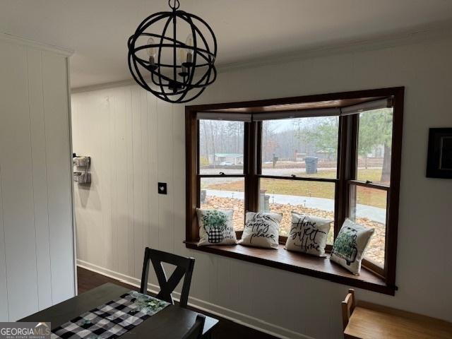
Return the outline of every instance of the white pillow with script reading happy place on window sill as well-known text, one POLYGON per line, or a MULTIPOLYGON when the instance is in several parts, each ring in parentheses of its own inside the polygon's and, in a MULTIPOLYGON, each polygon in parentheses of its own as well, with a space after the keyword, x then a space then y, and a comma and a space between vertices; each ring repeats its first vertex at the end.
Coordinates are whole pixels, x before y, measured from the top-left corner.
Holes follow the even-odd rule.
POLYGON ((278 249, 281 220, 283 215, 278 213, 246 212, 245 227, 239 244, 278 249))

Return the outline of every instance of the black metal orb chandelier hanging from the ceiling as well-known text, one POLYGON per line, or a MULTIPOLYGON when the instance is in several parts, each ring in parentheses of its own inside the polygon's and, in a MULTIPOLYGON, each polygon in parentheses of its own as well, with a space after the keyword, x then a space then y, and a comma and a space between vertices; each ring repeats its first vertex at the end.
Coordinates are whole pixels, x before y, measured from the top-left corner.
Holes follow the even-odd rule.
POLYGON ((172 11, 148 16, 129 37, 129 69, 142 88, 160 99, 189 102, 217 77, 217 40, 206 21, 179 10, 179 0, 168 4, 172 11))

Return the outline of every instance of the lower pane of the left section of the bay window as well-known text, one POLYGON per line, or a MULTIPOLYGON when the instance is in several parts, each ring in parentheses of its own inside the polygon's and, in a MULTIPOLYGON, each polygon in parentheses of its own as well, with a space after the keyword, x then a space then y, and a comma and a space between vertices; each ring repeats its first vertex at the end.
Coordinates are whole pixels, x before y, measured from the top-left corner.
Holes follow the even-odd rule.
POLYGON ((244 178, 201 178, 200 208, 234 210, 234 230, 243 230, 244 183, 244 178))

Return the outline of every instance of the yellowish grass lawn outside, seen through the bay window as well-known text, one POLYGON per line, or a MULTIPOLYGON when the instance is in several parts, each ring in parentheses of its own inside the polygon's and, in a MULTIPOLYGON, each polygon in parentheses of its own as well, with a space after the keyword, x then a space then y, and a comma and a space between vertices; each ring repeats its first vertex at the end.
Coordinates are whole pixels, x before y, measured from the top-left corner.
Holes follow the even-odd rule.
MULTIPOLYGON (((358 179, 379 182, 381 169, 359 169, 358 179)), ((298 174, 300 177, 306 175, 298 174)), ((335 170, 325 170, 311 177, 331 178, 334 177, 335 170)), ((243 182, 224 182, 210 184, 206 189, 218 189, 223 191, 243 191, 243 182)), ((313 196, 316 198, 334 198, 335 184, 330 182, 304 182, 291 181, 285 179, 261 179, 261 189, 265 189, 268 194, 285 194, 287 196, 313 196)), ((378 189, 368 189, 366 187, 357 188, 358 203, 374 207, 386 208, 386 191, 378 189)))

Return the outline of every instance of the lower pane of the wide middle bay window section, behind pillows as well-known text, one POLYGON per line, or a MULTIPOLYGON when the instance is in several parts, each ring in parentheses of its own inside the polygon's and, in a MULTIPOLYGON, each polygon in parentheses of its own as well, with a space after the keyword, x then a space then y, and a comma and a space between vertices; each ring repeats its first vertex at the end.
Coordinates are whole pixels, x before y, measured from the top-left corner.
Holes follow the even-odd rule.
MULTIPOLYGON (((287 179, 261 179, 259 210, 283 213, 280 235, 287 237, 292 210, 334 220, 334 188, 331 182, 304 182, 287 179)), ((328 244, 333 244, 333 222, 328 244)))

